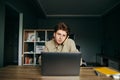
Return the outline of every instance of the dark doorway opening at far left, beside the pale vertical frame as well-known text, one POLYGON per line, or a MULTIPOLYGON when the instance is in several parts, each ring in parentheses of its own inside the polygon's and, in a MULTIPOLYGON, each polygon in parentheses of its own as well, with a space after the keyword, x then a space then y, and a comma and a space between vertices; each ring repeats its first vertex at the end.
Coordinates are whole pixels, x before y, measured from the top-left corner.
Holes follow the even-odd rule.
POLYGON ((19 13, 5 6, 4 66, 18 62, 19 13))

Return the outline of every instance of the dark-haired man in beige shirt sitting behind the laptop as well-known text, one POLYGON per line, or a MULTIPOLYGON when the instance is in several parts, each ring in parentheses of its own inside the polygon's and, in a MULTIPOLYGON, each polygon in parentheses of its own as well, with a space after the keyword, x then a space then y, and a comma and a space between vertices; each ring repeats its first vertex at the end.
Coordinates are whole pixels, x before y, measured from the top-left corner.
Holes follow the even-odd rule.
POLYGON ((46 42, 45 52, 79 52, 75 42, 69 38, 70 30, 63 22, 55 26, 53 39, 46 42))

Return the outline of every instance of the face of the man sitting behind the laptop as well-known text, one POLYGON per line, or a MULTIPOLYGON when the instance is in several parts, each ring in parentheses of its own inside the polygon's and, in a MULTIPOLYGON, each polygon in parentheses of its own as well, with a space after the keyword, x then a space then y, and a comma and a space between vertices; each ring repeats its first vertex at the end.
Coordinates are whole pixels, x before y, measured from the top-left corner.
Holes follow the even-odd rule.
POLYGON ((54 33, 54 39, 57 44, 62 44, 67 38, 67 33, 64 30, 58 30, 54 33))

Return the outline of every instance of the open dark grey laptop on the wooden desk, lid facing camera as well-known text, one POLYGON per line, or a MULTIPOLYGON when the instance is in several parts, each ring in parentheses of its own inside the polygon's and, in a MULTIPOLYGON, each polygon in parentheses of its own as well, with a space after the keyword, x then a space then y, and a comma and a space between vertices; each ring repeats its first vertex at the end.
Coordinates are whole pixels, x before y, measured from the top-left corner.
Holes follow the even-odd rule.
POLYGON ((43 76, 78 76, 81 53, 41 53, 41 74, 43 76))

